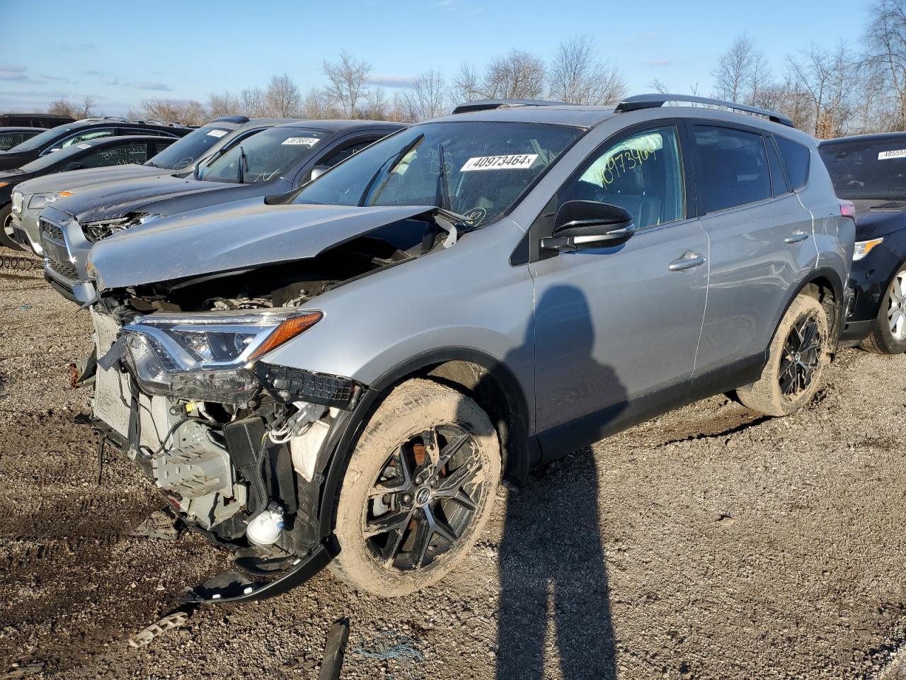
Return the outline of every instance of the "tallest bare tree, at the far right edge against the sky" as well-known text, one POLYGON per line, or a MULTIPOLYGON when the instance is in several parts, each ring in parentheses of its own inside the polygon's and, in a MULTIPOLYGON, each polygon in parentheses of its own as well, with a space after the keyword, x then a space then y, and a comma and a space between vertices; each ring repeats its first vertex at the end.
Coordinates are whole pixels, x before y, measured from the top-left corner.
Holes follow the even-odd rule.
POLYGON ((867 61, 884 74, 897 100, 896 120, 892 127, 906 127, 906 2, 880 0, 870 9, 871 20, 865 30, 867 61))

